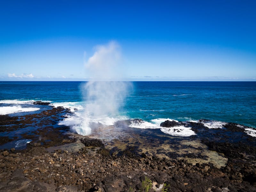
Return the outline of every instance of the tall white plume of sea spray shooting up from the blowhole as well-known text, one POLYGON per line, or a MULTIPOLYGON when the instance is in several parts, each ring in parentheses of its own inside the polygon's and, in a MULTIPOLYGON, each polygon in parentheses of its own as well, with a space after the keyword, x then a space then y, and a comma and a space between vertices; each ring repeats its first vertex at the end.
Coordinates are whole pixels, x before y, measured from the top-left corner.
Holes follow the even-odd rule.
POLYGON ((90 81, 84 86, 84 119, 80 126, 73 127, 78 134, 90 134, 95 129, 92 123, 114 124, 127 90, 131 88, 130 83, 122 81, 121 61, 120 46, 111 41, 107 45, 97 46, 93 56, 85 62, 90 81))

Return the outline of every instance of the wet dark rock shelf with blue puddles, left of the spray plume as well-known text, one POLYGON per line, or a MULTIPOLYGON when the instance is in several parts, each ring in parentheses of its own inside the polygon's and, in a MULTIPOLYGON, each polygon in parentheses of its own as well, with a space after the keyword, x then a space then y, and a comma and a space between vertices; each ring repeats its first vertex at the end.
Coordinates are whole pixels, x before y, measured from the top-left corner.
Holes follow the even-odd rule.
POLYGON ((58 125, 58 123, 67 114, 71 114, 69 109, 47 106, 45 110, 39 113, 23 116, 0 115, 0 148, 10 149, 15 147, 15 142, 19 142, 22 139, 32 140, 33 142, 40 141, 40 145, 45 146, 63 144, 63 140, 66 139, 68 141, 70 139, 62 133, 68 132, 70 128, 58 125))

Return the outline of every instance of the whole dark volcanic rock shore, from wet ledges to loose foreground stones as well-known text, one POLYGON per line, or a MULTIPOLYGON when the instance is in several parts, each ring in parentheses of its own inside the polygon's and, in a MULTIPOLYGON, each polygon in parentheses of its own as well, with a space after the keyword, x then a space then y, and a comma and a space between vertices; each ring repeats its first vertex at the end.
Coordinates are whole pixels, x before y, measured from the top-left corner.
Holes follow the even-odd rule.
MULTIPOLYGON (((23 134, 32 140, 27 148, 0 151, 0 191, 256 191, 256 140, 238 124, 209 130, 194 123, 197 135, 187 138, 125 127, 122 137, 109 141, 55 126, 64 113, 70 111, 51 108, 24 119, 0 116, 1 125, 12 124, 8 130, 35 119, 42 127, 23 134)), ((109 134, 111 129, 116 131, 108 127, 109 134)), ((1 137, 1 144, 12 139, 1 137)))

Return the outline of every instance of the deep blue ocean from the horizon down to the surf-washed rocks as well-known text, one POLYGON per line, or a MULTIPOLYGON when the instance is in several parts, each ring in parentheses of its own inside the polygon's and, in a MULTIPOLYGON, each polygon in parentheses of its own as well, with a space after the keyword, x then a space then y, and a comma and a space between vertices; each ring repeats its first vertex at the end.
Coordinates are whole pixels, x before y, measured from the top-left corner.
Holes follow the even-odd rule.
POLYGON ((89 121, 134 118, 146 122, 138 128, 159 128, 166 119, 256 128, 256 82, 0 82, 0 114, 36 113, 28 106, 34 100, 70 108, 75 115, 62 123, 80 134, 90 133, 84 130, 89 121))

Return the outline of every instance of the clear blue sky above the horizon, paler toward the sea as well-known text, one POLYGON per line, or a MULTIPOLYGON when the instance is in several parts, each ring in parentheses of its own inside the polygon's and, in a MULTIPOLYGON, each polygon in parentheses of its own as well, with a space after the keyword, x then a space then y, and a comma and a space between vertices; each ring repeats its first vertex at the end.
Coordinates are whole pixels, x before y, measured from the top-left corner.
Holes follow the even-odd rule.
POLYGON ((90 80, 116 42, 125 80, 256 80, 256 1, 1 1, 0 80, 90 80))

